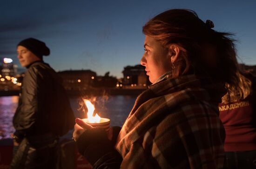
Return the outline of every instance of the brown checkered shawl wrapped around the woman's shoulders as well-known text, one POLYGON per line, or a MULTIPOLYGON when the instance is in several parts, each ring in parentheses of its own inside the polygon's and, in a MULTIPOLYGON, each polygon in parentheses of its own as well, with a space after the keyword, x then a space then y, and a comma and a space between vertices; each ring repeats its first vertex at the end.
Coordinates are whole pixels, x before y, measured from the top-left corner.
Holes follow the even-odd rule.
POLYGON ((121 169, 221 169, 224 85, 195 75, 167 78, 135 101, 116 143, 121 169))

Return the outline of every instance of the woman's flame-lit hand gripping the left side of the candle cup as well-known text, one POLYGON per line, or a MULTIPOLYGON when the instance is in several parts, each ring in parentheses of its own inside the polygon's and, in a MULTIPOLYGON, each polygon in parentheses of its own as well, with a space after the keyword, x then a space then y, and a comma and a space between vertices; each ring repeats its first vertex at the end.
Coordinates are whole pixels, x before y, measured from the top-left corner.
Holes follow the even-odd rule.
POLYGON ((74 132, 73 132, 74 141, 76 141, 79 138, 79 136, 81 136, 81 134, 85 132, 85 130, 89 130, 91 128, 93 127, 88 123, 85 123, 80 118, 75 118, 75 125, 74 125, 74 132))

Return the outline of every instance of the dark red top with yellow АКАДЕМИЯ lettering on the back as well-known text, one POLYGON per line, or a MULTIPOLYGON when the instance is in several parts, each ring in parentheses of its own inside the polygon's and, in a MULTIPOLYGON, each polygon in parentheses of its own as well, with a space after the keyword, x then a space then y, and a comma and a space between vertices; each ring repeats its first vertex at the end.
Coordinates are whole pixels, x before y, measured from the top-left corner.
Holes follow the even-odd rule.
POLYGON ((256 96, 230 104, 219 104, 220 119, 226 131, 224 150, 256 150, 256 96))

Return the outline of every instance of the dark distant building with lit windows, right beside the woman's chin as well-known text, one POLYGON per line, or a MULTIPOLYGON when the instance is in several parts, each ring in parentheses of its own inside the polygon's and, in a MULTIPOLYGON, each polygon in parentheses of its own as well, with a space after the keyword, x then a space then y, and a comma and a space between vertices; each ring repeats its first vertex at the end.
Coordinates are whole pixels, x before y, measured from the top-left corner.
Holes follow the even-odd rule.
POLYGON ((142 65, 126 66, 122 73, 123 79, 119 83, 123 88, 147 88, 150 84, 145 67, 142 65))

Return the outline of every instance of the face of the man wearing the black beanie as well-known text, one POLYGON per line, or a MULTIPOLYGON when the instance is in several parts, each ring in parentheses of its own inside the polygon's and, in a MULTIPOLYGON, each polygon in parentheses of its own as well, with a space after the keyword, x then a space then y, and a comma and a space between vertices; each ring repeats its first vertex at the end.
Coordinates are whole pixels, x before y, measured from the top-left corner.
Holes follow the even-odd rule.
POLYGON ((17 58, 19 59, 20 65, 22 67, 26 67, 30 65, 31 63, 40 60, 34 53, 30 52, 26 47, 24 46, 18 46, 17 47, 17 58))

